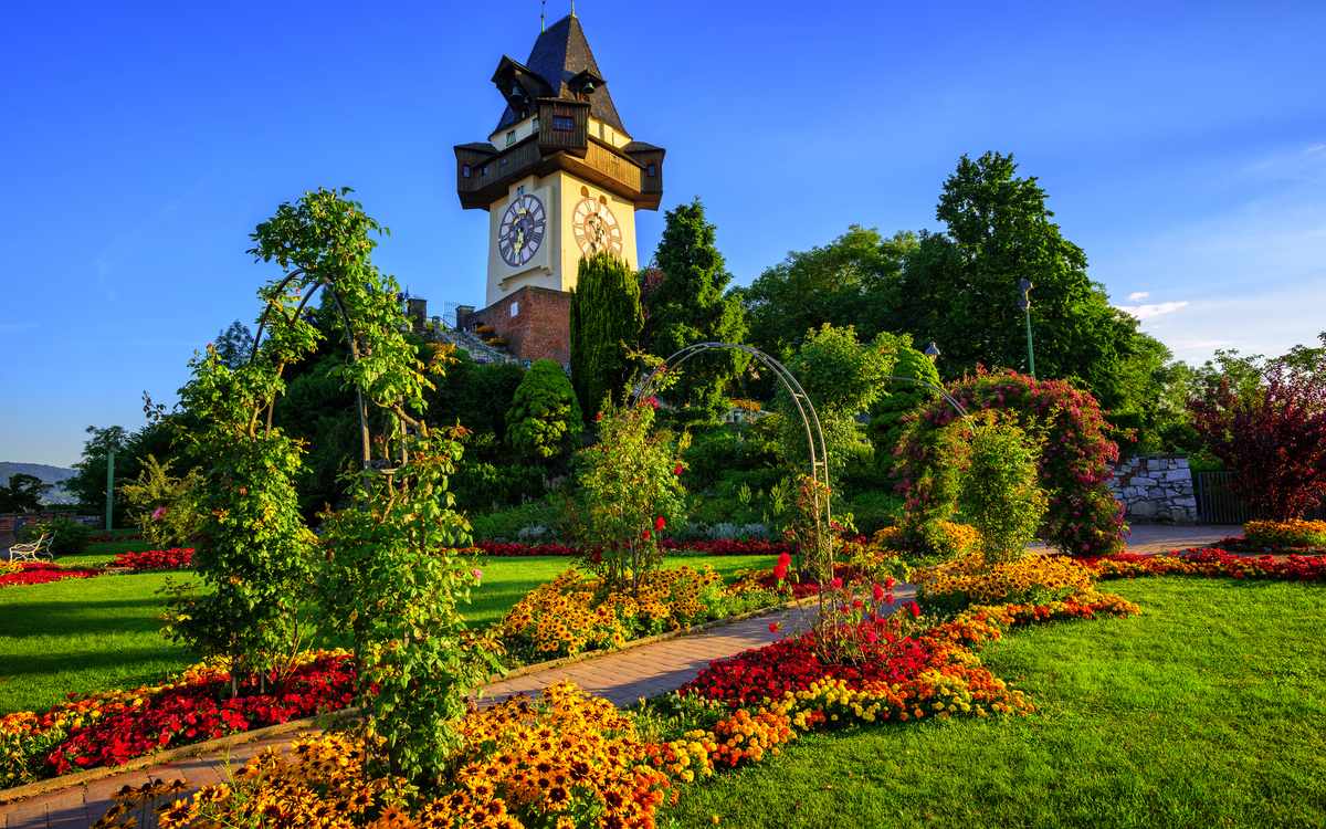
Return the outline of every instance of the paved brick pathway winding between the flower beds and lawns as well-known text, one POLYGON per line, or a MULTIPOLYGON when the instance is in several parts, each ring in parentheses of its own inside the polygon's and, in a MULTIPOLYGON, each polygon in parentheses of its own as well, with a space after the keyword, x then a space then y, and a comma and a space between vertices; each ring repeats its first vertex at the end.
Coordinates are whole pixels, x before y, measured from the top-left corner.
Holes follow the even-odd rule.
MULTIPOLYGON (((1171 549, 1200 546, 1238 535, 1238 527, 1135 527, 1128 539, 1128 550, 1158 553, 1171 549)), ((895 590, 898 605, 911 601, 914 590, 899 585, 895 590)), ((549 669, 537 674, 497 682, 485 688, 496 700, 512 694, 534 695, 546 684, 569 679, 586 691, 603 696, 617 706, 629 706, 640 698, 670 691, 695 678, 711 659, 732 657, 752 647, 766 645, 782 634, 769 630, 769 622, 784 614, 756 617, 712 627, 701 633, 654 642, 627 651, 607 654, 585 662, 549 669)), ((794 627, 797 610, 789 613, 782 626, 794 627)), ((312 733, 312 732, 304 732, 312 733)), ((248 757, 268 745, 282 745, 296 735, 281 735, 259 743, 248 743, 227 751, 190 757, 175 763, 126 772, 86 785, 73 787, 49 795, 0 805, 0 828, 4 829, 85 829, 101 818, 111 806, 111 796, 121 787, 141 785, 149 780, 183 777, 192 788, 225 783, 227 763, 239 769, 248 757)), ((150 825, 155 825, 152 821, 150 825)), ((150 829, 150 828, 143 828, 150 829)))

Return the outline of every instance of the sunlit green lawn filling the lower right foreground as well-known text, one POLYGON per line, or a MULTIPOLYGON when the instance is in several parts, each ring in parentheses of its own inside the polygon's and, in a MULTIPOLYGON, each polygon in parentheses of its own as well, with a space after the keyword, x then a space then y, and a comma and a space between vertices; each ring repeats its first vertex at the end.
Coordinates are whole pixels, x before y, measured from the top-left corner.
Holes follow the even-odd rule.
POLYGON ((1326 590, 1102 586, 1143 613, 1020 630, 983 654, 1037 714, 802 737, 686 787, 660 825, 1326 825, 1326 590))

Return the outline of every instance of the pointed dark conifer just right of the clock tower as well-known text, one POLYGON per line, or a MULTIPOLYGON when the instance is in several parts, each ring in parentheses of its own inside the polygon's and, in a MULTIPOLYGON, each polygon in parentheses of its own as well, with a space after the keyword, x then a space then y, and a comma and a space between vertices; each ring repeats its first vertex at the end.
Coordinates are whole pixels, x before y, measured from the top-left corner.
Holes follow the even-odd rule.
MULTIPOLYGON (((704 218, 696 196, 666 215, 663 237, 654 255, 664 279, 648 297, 644 341, 651 354, 667 358, 696 342, 743 342, 745 321, 723 253, 715 245, 716 228, 704 218)), ((701 354, 684 366, 682 379, 664 397, 715 416, 727 411, 723 390, 747 365, 735 349, 701 354)))

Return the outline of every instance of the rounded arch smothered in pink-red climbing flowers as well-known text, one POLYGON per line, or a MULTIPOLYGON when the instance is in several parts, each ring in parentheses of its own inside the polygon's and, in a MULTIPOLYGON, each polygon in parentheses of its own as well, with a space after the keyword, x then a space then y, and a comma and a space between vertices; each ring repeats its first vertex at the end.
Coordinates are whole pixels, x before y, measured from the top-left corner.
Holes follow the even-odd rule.
MULTIPOLYGON (((1109 424, 1095 399, 1065 381, 1036 381, 1014 371, 977 367, 948 387, 968 411, 1002 411, 1025 430, 1044 434, 1040 485, 1049 492, 1045 540, 1074 554, 1123 550, 1123 507, 1106 488, 1109 463, 1119 447, 1106 436, 1109 424)), ((956 440, 959 415, 936 399, 911 416, 895 452, 894 478, 906 497, 910 523, 934 527, 953 512, 956 470, 945 460, 956 440)))

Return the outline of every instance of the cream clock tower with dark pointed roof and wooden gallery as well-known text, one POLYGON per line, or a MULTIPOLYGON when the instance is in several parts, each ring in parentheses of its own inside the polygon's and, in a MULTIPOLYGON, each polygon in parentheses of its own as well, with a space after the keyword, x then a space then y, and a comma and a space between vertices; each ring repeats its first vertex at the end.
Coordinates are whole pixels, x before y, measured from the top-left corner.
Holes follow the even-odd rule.
MULTIPOLYGON (((664 151, 622 126, 575 15, 545 29, 524 64, 503 57, 492 82, 505 107, 488 141, 455 149, 456 192, 489 214, 487 308, 468 318, 505 336, 522 296, 557 305, 552 292, 575 287, 581 256, 639 267, 635 211, 659 207, 664 151)), ((526 359, 548 350, 528 332, 517 338, 507 337, 526 359)))

